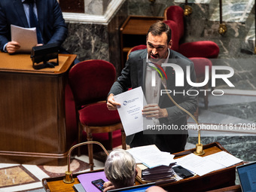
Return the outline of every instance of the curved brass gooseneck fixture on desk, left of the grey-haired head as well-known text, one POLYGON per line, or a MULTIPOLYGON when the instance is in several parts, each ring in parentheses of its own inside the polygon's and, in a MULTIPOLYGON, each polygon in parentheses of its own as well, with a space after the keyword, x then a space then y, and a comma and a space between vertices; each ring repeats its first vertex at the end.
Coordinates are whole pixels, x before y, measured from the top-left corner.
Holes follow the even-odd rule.
POLYGON ((69 153, 68 153, 68 171, 65 172, 65 178, 63 179, 63 182, 66 184, 71 184, 75 181, 75 179, 72 176, 72 171, 70 171, 70 155, 71 152, 73 151, 73 149, 80 147, 81 145, 87 145, 87 144, 97 144, 99 146, 102 147, 102 149, 105 151, 105 154, 108 155, 108 151, 104 148, 104 146, 100 143, 100 142, 81 142, 78 143, 77 145, 74 145, 72 148, 69 149, 69 153))

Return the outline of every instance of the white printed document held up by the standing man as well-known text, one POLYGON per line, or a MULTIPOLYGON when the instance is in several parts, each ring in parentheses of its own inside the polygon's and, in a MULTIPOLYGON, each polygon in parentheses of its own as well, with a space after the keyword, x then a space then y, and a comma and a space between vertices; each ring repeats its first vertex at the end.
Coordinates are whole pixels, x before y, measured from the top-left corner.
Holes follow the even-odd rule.
POLYGON ((114 101, 121 104, 117 110, 126 136, 147 130, 147 125, 154 125, 151 118, 142 115, 143 105, 146 105, 142 87, 120 93, 114 96, 114 101))

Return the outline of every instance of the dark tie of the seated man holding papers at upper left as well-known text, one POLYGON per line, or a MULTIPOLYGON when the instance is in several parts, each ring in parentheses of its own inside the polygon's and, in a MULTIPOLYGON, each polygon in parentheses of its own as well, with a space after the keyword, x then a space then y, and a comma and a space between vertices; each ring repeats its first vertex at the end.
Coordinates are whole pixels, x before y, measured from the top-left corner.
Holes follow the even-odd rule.
POLYGON ((35 27, 36 28, 36 35, 38 37, 38 44, 42 44, 42 37, 41 37, 41 32, 38 26, 38 20, 35 16, 35 12, 33 10, 34 8, 34 0, 26 0, 24 3, 29 4, 29 22, 30 22, 30 27, 35 27))

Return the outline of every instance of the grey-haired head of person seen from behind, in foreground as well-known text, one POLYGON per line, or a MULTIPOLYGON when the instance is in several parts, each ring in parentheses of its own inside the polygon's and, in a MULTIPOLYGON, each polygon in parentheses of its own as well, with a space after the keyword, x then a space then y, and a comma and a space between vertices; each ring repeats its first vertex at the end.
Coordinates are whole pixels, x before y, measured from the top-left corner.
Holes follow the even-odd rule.
POLYGON ((137 175, 133 156, 123 149, 111 151, 105 161, 104 171, 109 180, 103 185, 104 191, 133 186, 137 175))

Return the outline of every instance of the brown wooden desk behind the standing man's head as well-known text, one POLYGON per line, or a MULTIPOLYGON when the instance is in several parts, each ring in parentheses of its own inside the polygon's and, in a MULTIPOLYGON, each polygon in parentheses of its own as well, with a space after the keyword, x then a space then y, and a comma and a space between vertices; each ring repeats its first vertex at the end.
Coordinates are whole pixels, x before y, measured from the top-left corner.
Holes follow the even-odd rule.
POLYGON ((163 17, 129 16, 120 27, 120 50, 122 69, 130 48, 146 44, 146 35, 149 27, 163 17))

